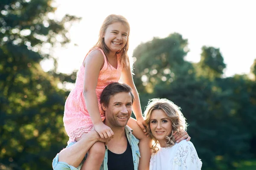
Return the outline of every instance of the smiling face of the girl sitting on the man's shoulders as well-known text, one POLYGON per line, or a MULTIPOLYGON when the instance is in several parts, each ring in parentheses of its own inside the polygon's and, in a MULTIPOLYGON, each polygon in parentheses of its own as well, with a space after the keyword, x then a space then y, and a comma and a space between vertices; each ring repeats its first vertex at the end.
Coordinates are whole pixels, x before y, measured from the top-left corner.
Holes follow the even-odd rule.
POLYGON ((105 31, 104 42, 111 52, 124 48, 129 29, 120 22, 110 24, 105 31))

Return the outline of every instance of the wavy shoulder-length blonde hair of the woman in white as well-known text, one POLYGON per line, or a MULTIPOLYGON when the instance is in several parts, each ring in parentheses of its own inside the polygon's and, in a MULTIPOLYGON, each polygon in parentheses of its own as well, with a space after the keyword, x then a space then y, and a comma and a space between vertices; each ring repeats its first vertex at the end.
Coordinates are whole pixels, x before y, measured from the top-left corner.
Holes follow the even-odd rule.
POLYGON ((176 131, 180 134, 181 131, 185 130, 187 127, 186 119, 180 111, 180 107, 175 105, 168 99, 151 99, 148 102, 146 110, 144 112, 145 115, 145 122, 148 125, 147 132, 150 134, 151 139, 153 139, 154 144, 151 147, 153 153, 156 153, 159 148, 157 144, 159 144, 158 140, 153 136, 151 129, 150 129, 150 120, 151 120, 151 113, 154 110, 162 110, 168 116, 169 120, 172 122, 172 133, 169 136, 166 136, 166 147, 173 146, 175 144, 175 137, 173 133, 176 131))

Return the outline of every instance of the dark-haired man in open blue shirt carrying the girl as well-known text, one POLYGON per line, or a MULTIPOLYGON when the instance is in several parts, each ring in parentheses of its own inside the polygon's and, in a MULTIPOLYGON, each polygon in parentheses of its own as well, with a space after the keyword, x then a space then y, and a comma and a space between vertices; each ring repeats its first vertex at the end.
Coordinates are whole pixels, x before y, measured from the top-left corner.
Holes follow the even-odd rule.
MULTIPOLYGON (((131 128, 127 126, 133 101, 134 95, 130 86, 118 82, 108 85, 102 91, 101 105, 105 111, 105 125, 111 127, 114 138, 109 141, 102 139, 93 128, 87 133, 86 138, 69 144, 56 155, 52 161, 53 169, 80 170, 86 159, 84 156, 90 147, 99 141, 107 144, 100 170, 137 170, 140 159, 139 140, 132 135, 131 128)), ((181 139, 188 137, 186 132, 182 136, 181 139)))

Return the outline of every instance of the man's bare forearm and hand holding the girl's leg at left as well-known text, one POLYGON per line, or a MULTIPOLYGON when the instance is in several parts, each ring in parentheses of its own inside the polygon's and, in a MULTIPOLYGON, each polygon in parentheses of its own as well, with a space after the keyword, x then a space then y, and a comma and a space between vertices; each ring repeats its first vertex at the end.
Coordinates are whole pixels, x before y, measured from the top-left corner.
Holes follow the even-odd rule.
POLYGON ((66 162, 73 167, 78 167, 90 147, 97 141, 108 142, 108 139, 100 138, 99 134, 93 128, 86 136, 76 142, 76 144, 61 150, 59 153, 60 162, 66 162))

